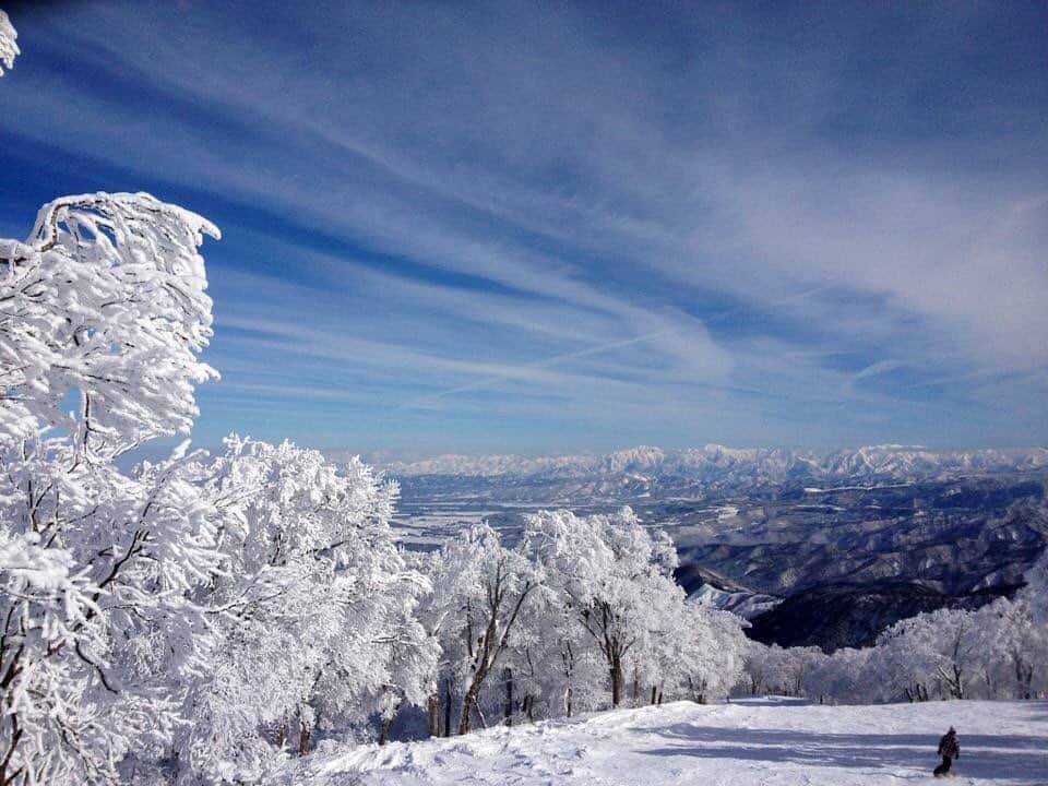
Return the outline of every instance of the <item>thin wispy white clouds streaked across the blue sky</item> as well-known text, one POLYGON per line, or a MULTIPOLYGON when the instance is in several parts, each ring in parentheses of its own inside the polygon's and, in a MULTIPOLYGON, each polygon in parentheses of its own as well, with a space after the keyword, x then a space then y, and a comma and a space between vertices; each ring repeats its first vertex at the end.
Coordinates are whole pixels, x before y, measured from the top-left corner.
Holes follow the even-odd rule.
MULTIPOLYGON (((219 331, 247 334, 216 340, 239 369, 230 395, 356 401, 325 366, 352 364, 401 407, 472 413, 483 395, 492 413, 537 417, 555 395, 550 417, 646 418, 665 433, 674 413, 702 440, 719 413, 735 425, 718 439, 735 428, 761 441, 740 425, 750 418, 803 443, 839 439, 826 407, 874 437, 884 422, 913 428, 957 380, 1016 401, 1044 385, 1044 178, 965 166, 1003 138, 988 151, 841 144, 822 131, 842 90, 823 53, 743 46, 737 20, 669 68, 569 10, 464 22, 449 9, 329 9, 234 37, 196 10, 150 9, 143 23, 100 7, 53 24, 76 59, 198 115, 143 115, 68 74, 46 90, 4 84, 0 128, 432 274, 245 228, 289 273, 214 273, 217 290, 242 295, 218 305, 219 331), (297 266, 321 284, 296 283, 297 266), (271 352, 297 383, 260 381, 272 369, 251 358, 271 352), (1005 370, 1022 390, 1001 388, 1005 370), (908 389, 880 384, 903 371, 908 389), (915 398, 915 385, 932 393, 915 398)), ((701 37, 722 21, 689 23, 701 37)), ((984 404, 975 393, 964 407, 984 404)))

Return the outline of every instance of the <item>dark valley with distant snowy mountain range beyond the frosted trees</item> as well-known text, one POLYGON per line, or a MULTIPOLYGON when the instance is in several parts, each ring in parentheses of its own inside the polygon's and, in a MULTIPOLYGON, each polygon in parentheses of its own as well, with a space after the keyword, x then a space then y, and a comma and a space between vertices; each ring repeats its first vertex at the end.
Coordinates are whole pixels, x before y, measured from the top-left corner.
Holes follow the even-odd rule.
POLYGON ((707 445, 388 472, 402 485, 394 523, 413 548, 479 521, 512 540, 529 512, 629 505, 674 538, 686 592, 784 646, 865 646, 900 619, 1010 595, 1048 544, 1043 450, 707 445))

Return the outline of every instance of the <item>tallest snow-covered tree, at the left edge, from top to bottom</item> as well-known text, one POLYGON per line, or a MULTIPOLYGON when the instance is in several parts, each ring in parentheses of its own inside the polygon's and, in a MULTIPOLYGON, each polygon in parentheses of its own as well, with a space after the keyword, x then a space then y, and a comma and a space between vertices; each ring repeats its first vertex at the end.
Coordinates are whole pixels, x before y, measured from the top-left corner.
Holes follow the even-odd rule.
POLYGON ((147 194, 99 193, 0 240, 0 783, 117 779, 129 751, 169 740, 209 654, 190 596, 218 516, 194 456, 111 463, 187 430, 213 374, 203 234, 147 194))

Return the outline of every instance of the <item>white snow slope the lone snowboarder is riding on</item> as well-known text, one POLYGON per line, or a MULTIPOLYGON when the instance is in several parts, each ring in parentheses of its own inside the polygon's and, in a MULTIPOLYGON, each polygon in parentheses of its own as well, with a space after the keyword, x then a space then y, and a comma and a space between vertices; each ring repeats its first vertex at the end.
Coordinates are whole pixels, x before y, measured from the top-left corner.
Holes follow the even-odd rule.
POLYGON ((877 706, 676 702, 465 737, 320 751, 273 786, 1048 784, 1048 702, 877 706), (957 728, 953 781, 936 746, 957 728))

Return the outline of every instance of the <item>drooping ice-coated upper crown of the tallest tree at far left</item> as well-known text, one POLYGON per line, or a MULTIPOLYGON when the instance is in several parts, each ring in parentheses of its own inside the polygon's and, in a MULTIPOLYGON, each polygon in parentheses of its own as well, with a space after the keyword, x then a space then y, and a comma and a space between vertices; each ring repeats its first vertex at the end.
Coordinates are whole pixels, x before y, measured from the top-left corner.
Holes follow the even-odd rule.
POLYGON ((188 433, 211 331, 209 222, 148 194, 83 194, 45 205, 25 242, 0 240, 0 433, 60 426, 105 461, 188 433), (66 412, 68 398, 79 405, 66 412))

